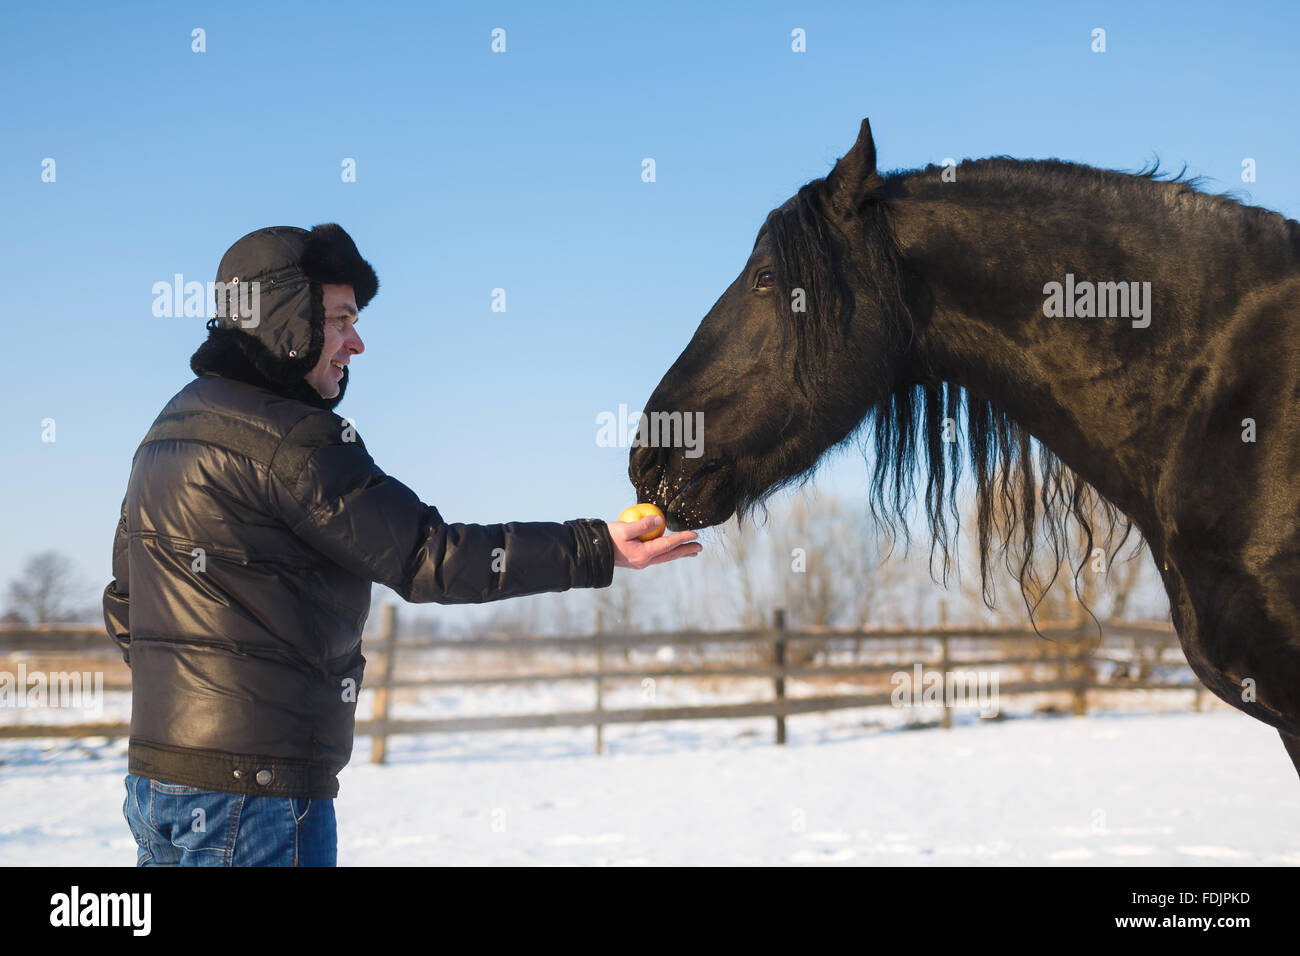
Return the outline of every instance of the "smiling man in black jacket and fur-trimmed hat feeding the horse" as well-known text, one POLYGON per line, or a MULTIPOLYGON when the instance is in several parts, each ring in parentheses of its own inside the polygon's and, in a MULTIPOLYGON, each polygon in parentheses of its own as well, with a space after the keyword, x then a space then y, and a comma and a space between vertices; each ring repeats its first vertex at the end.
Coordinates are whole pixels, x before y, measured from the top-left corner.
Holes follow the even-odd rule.
POLYGON ((378 278, 338 225, 217 269, 217 316, 135 453, 104 620, 131 667, 139 865, 335 862, 370 583, 464 604, 603 588, 698 554, 662 519, 448 524, 333 412, 378 278))

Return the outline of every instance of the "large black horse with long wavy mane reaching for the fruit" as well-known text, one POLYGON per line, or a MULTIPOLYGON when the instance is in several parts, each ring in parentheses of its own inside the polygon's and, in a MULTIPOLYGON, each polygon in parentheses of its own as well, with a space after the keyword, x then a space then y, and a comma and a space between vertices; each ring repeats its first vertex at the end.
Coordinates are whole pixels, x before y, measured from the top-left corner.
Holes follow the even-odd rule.
POLYGON ((1300 224, 1196 186, 1008 157, 881 174, 863 120, 646 403, 706 428, 694 455, 638 436, 638 501, 675 531, 744 520, 861 425, 872 514, 906 532, 923 484, 945 574, 968 463, 985 600, 991 550, 1041 593, 1069 523, 1089 551, 1136 527, 1192 670, 1300 770, 1300 224))

